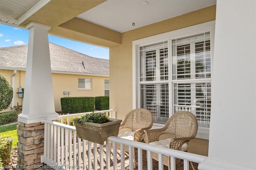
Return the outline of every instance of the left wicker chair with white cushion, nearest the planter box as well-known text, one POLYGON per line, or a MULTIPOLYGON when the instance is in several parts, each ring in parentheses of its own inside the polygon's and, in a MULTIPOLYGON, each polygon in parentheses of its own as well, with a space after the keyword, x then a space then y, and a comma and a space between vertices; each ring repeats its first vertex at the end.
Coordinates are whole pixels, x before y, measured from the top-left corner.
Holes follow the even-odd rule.
MULTIPOLYGON (((144 130, 150 129, 152 125, 153 115, 148 109, 134 109, 124 117, 119 128, 118 137, 143 142, 145 136, 144 130)), ((118 146, 118 149, 120 149, 120 146, 118 146)), ((124 146, 124 150, 128 152, 128 146, 124 146)), ((133 158, 135 168, 136 163, 134 152, 133 158)))

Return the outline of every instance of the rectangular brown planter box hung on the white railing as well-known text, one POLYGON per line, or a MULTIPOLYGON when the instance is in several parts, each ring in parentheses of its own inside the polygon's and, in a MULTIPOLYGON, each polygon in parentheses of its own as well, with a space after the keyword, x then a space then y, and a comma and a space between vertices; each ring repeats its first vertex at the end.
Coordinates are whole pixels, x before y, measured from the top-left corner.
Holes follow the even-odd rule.
POLYGON ((108 123, 79 123, 76 125, 76 132, 79 138, 85 139, 100 145, 104 144, 110 136, 117 136, 122 120, 108 118, 108 123))

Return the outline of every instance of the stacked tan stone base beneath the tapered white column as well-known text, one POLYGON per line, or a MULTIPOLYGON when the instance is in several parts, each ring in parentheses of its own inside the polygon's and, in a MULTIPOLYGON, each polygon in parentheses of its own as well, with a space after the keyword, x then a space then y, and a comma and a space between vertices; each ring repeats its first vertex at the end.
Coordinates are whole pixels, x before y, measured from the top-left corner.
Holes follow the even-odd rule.
POLYGON ((17 124, 18 165, 24 170, 32 170, 42 165, 40 156, 44 154, 44 123, 17 124), (26 168, 24 168, 26 166, 26 168))

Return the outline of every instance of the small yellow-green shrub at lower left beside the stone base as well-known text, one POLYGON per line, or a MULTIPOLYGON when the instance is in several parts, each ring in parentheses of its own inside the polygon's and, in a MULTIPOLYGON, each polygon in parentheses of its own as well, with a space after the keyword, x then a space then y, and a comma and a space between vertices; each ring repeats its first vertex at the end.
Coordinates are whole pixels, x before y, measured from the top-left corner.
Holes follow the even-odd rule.
POLYGON ((0 137, 0 156, 4 165, 10 163, 12 140, 13 138, 10 135, 3 135, 0 137))

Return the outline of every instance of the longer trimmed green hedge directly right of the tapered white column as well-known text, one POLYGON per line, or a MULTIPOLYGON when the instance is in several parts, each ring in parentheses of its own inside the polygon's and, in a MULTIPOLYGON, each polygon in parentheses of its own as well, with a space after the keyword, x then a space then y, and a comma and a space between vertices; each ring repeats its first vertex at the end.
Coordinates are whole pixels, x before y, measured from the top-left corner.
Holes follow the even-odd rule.
POLYGON ((83 113, 94 111, 95 97, 60 98, 63 113, 83 113))

